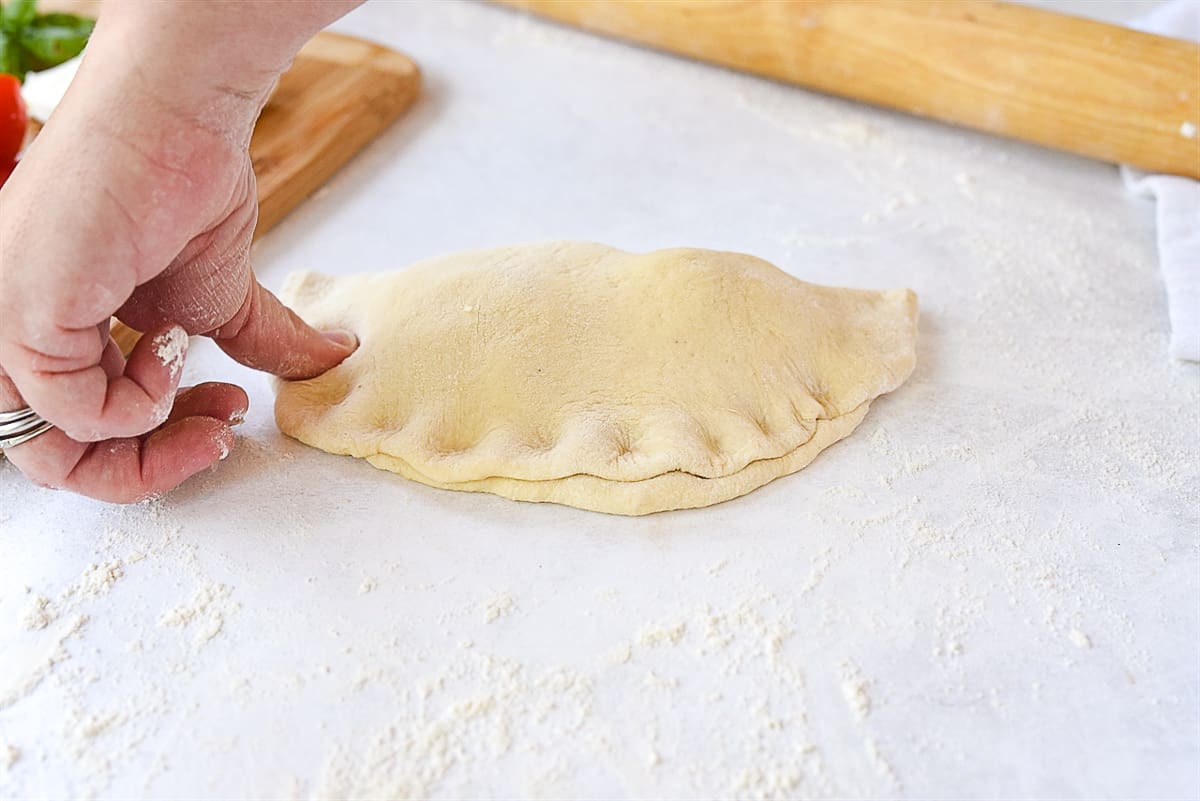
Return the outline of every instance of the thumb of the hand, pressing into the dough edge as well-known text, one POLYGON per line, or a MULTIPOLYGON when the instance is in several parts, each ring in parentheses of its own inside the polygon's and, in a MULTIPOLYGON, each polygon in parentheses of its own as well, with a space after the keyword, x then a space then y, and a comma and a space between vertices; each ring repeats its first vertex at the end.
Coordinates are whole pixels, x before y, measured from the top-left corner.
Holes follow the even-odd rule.
POLYGON ((349 331, 322 333, 310 326, 263 289, 253 272, 238 313, 208 336, 242 365, 286 379, 320 375, 359 344, 349 331))

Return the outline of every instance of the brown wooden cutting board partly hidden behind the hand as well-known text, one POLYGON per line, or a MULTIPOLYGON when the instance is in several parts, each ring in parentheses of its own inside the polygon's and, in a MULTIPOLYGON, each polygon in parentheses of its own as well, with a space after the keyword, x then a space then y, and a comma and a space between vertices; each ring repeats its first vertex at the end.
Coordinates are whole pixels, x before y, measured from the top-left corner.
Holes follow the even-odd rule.
MULTIPOLYGON (((40 7, 95 16, 95 0, 40 7)), ((323 31, 296 55, 263 109, 250 141, 258 180, 258 239, 388 128, 420 94, 421 73, 406 55, 323 31)), ((114 321, 128 351, 138 333, 114 321)))

